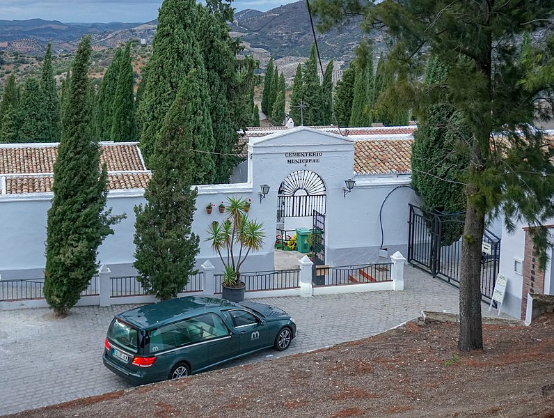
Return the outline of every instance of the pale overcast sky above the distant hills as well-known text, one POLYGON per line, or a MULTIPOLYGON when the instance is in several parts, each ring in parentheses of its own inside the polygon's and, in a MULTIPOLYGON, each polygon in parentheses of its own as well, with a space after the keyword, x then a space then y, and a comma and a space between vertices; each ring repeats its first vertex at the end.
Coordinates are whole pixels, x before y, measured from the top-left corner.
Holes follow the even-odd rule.
MULTIPOLYGON (((266 11, 296 0, 235 0, 235 10, 266 11)), ((60 22, 148 22, 162 0, 0 0, 0 20, 40 18, 60 22)))

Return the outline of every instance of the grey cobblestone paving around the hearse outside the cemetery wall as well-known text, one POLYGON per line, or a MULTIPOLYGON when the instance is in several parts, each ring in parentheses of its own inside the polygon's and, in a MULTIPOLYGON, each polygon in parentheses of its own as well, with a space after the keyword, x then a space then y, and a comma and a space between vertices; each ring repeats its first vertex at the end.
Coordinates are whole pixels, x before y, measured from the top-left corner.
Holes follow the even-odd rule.
MULTIPOLYGON (((302 353, 379 334, 429 311, 458 311, 458 290, 409 265, 404 291, 271 297, 291 314, 298 334, 284 353, 264 350, 230 365, 302 353)), ((49 309, 0 311, 0 415, 130 387, 102 364, 106 329, 135 305, 75 307, 64 319, 49 309)), ((489 315, 483 304, 484 315, 489 315)), ((490 314, 496 315, 496 311, 490 314)))

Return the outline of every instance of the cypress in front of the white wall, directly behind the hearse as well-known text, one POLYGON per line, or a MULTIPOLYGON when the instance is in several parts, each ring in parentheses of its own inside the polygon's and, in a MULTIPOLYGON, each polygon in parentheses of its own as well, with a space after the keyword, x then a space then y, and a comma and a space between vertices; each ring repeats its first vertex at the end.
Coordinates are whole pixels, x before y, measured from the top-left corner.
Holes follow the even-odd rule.
POLYGON ((152 179, 145 190, 145 206, 136 206, 134 267, 147 291, 161 300, 183 291, 194 274, 198 235, 191 229, 197 173, 195 137, 209 127, 203 102, 203 80, 191 71, 164 120, 152 154, 152 179), (203 114, 198 114, 203 109, 203 114))

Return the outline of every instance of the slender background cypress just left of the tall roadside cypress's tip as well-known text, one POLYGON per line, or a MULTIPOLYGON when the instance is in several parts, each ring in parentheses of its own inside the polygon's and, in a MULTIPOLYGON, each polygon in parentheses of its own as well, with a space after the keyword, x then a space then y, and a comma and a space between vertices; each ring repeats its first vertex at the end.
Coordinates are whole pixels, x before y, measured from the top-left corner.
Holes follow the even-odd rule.
POLYGON ((56 79, 52 70, 52 43, 46 48, 45 58, 42 61, 42 75, 40 88, 44 98, 46 132, 44 141, 58 142, 61 135, 60 100, 56 90, 56 79))

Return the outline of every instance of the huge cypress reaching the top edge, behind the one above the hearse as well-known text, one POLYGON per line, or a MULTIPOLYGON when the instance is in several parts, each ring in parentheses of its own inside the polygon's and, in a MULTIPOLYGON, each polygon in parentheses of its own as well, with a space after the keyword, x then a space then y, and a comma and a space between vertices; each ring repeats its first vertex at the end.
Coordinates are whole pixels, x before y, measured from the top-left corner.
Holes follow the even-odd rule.
MULTIPOLYGON (((194 0, 166 0, 159 9, 148 63, 148 83, 139 109, 143 121, 141 150, 147 164, 150 164, 157 134, 182 80, 192 68, 200 68, 199 65, 204 68, 203 63, 198 62, 201 60, 196 38, 199 9, 194 0)), ((205 69, 203 71, 205 73, 205 69)), ((213 145, 209 151, 213 151, 213 145)))

